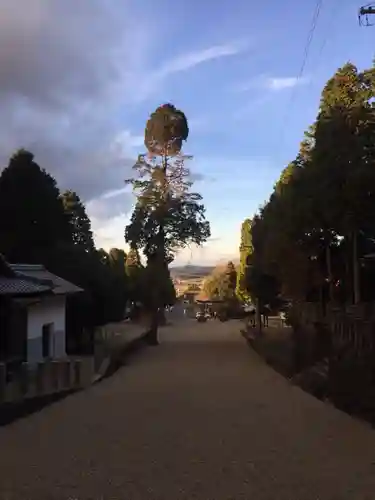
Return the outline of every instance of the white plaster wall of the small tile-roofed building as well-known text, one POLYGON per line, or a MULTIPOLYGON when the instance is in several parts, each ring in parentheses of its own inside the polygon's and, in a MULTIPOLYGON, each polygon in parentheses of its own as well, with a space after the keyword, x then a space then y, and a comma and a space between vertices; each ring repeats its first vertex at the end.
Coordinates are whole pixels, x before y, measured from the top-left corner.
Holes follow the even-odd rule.
POLYGON ((51 355, 54 358, 65 356, 65 302, 65 296, 45 297, 28 307, 28 361, 41 361, 42 328, 46 323, 53 323, 51 355))

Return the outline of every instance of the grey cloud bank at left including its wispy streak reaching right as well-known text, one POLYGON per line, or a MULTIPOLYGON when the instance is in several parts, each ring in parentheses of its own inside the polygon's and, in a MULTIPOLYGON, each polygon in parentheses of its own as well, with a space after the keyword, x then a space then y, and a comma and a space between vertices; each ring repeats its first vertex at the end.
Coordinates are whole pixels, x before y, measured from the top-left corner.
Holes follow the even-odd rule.
POLYGON ((100 244, 114 240, 133 201, 123 180, 143 137, 124 129, 126 105, 160 93, 171 74, 247 48, 243 41, 206 46, 150 69, 157 22, 153 16, 139 23, 135 6, 1 0, 0 169, 16 149, 31 150, 61 189, 87 203, 100 244))

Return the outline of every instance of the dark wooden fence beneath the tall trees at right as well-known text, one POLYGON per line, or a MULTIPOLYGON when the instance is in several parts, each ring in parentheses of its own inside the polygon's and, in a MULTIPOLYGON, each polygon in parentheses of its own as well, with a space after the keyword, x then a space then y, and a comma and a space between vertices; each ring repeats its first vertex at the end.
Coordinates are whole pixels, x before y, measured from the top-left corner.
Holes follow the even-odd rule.
POLYGON ((292 316, 296 346, 300 350, 308 346, 299 371, 324 359, 329 399, 341 409, 375 421, 374 304, 329 305, 322 314, 319 305, 305 303, 295 307, 292 316))

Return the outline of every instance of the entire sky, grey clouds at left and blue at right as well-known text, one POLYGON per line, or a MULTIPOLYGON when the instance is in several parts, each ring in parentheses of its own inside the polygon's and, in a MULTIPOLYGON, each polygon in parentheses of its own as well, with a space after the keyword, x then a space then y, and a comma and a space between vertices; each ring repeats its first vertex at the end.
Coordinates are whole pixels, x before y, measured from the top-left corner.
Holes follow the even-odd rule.
POLYGON ((189 122, 184 152, 212 233, 175 263, 238 257, 241 223, 295 158, 325 82, 374 58, 361 0, 321 2, 305 58, 316 4, 0 0, 0 164, 30 149, 86 203, 96 244, 126 249, 124 179, 149 114, 171 102, 189 122))

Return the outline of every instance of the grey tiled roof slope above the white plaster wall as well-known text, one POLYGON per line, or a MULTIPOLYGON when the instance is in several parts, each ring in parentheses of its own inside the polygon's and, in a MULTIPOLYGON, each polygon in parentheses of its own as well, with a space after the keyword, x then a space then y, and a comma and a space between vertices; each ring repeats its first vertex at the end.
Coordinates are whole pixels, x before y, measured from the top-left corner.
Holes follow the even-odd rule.
POLYGON ((50 273, 41 264, 9 264, 18 277, 52 288, 55 295, 82 292, 82 288, 50 273))

